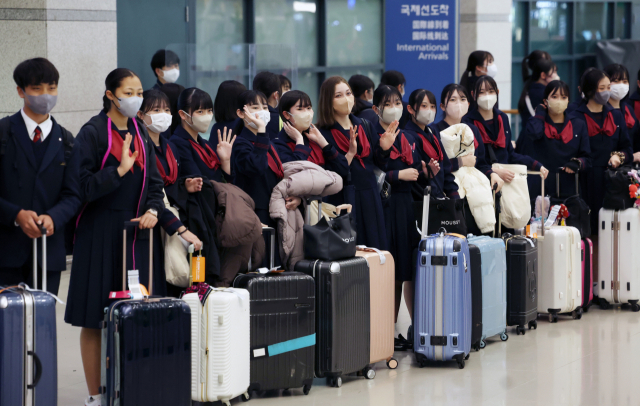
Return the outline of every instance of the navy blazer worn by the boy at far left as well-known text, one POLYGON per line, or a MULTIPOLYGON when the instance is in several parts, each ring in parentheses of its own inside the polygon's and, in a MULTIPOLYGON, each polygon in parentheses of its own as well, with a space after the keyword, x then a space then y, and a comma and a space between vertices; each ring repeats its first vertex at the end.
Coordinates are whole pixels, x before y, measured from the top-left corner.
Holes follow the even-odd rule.
POLYGON ((47 270, 63 271, 67 266, 65 224, 80 208, 80 148, 74 142, 70 156, 65 156, 62 127, 51 117, 51 132, 43 141, 48 145, 37 162, 22 114, 3 120, 9 121, 10 132, 3 135, 5 143, 0 147, 4 150, 0 155, 0 268, 21 267, 29 259, 31 239, 15 220, 20 210, 33 210, 51 216, 55 227, 47 238, 47 270))

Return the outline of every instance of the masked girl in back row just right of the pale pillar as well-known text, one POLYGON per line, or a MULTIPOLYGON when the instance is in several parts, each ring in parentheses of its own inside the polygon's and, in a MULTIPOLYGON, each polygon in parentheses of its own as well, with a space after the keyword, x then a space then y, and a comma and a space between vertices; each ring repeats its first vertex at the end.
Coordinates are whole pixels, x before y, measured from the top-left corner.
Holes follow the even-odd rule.
POLYGON ((531 76, 524 83, 518 100, 518 112, 523 127, 527 125, 529 118, 535 115, 536 108, 542 103, 544 89, 552 80, 560 80, 558 67, 550 59, 539 59, 533 65, 531 76))

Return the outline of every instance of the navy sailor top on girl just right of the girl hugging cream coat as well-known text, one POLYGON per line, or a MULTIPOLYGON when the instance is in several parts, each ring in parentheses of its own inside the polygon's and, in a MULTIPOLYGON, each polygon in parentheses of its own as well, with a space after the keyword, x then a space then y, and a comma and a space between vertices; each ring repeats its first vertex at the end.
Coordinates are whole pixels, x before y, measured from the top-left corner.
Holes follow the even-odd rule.
POLYGON ((478 127, 482 141, 485 144, 485 160, 488 163, 494 163, 489 151, 489 146, 491 146, 497 163, 525 165, 527 169, 532 171, 538 171, 542 167, 540 162, 527 155, 518 154, 513 149, 509 118, 497 108, 494 107, 493 109, 493 120, 490 120, 490 123, 484 120, 477 109, 464 116, 462 122, 478 127))

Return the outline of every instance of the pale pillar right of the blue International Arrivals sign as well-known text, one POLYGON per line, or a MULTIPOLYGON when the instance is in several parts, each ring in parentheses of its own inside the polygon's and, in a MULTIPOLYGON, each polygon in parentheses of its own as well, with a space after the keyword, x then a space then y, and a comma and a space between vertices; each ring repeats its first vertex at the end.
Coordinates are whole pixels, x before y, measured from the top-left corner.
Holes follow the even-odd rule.
POLYGON ((511 102, 511 3, 511 0, 460 0, 460 74, 466 69, 471 52, 491 52, 498 66, 495 79, 502 110, 517 107, 511 102))

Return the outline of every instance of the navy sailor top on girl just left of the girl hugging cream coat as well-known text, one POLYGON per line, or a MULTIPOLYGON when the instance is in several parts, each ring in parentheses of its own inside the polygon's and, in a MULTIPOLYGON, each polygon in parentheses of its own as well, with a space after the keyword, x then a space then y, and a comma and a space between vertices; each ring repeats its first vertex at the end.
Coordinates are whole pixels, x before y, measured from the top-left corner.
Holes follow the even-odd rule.
MULTIPOLYGON (((434 132, 431 126, 426 126, 423 130, 413 121, 409 121, 404 129, 416 140, 416 149, 425 164, 429 165, 432 158, 440 163, 440 170, 429 182, 431 184, 431 195, 437 198, 447 196, 451 199, 459 199, 458 185, 451 173, 451 161, 444 152, 439 132, 434 132)), ((423 180, 418 179, 418 183, 422 187, 427 185, 427 181, 424 178, 423 180)))

